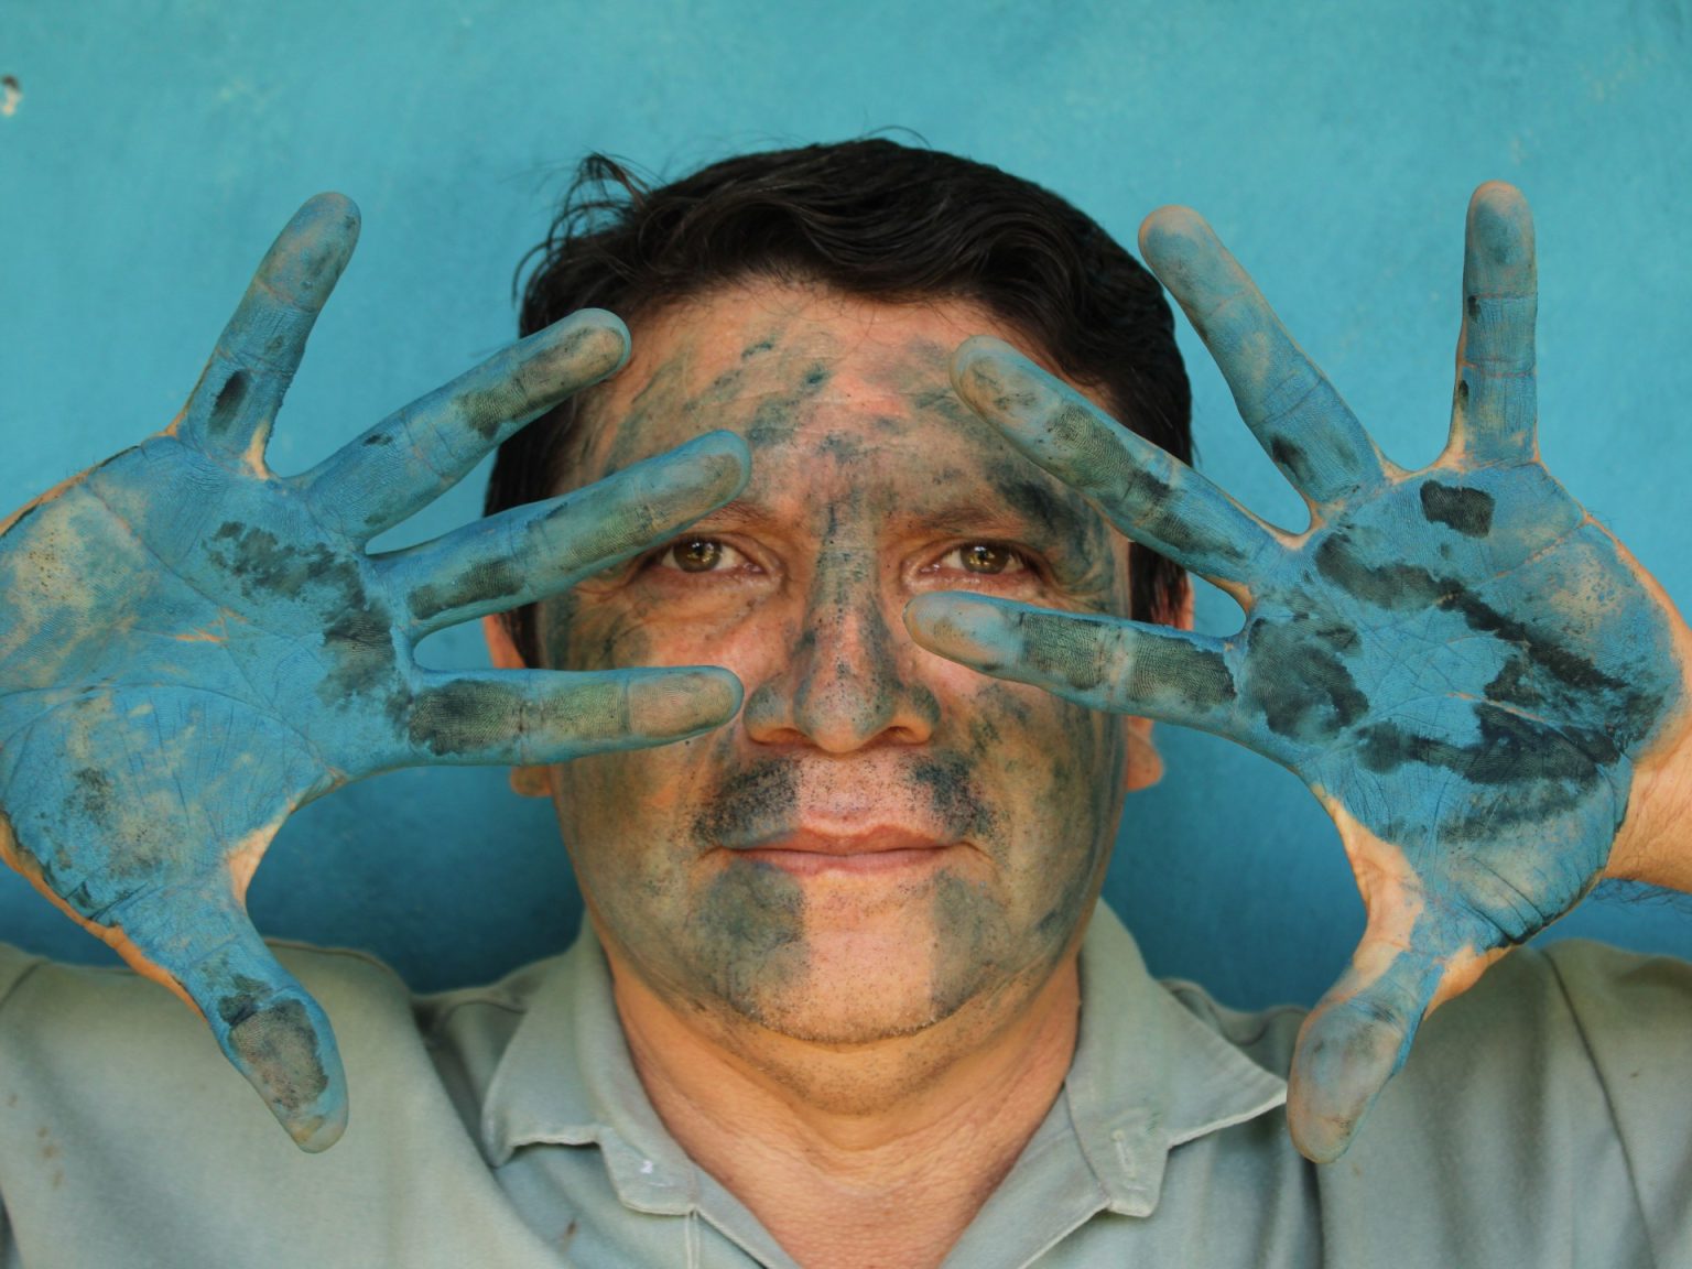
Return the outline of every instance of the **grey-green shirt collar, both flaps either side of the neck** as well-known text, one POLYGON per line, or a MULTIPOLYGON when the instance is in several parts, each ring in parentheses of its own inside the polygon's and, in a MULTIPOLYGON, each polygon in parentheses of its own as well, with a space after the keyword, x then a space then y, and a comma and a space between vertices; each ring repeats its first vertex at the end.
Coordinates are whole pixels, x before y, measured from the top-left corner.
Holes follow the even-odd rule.
MULTIPOLYGON (((1066 1096, 1105 1205, 1145 1217, 1171 1149, 1279 1107, 1286 1081, 1169 995, 1100 904, 1081 942, 1081 1034, 1066 1096)), ((481 1127, 496 1167, 523 1145, 594 1144, 626 1206, 682 1215, 699 1205, 699 1173, 641 1088, 587 922, 499 1059, 481 1127)))

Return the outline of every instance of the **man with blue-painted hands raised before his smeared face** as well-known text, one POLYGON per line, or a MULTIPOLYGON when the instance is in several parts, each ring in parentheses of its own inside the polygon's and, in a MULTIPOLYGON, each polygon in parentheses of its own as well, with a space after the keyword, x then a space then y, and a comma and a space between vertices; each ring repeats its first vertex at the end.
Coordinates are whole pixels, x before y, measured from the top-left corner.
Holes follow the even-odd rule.
POLYGON ((296 1142, 340 1144, 261 1130, 162 993, 0 959, 14 1261, 1692 1257, 1684 966, 1509 958, 1381 1093, 1599 876, 1689 883, 1692 643, 1538 465, 1519 195, 1470 206, 1423 472, 1203 222, 1147 222, 1296 536, 1181 462, 1173 323, 1120 247, 888 142, 567 213, 523 343, 274 477, 354 230, 308 203, 171 428, 0 536, 8 863, 195 1003, 296 1142), (634 332, 601 386, 626 345, 591 305, 634 332), (497 443, 487 519, 364 552, 497 443), (1152 552, 1242 633, 1181 629, 1152 552), (472 618, 497 670, 411 663, 472 618), (1152 717, 1338 822, 1369 931, 1308 1019, 1159 988, 1095 910, 1152 717), (283 968, 242 912, 277 824, 420 761, 553 799, 582 941, 431 1000, 283 968))

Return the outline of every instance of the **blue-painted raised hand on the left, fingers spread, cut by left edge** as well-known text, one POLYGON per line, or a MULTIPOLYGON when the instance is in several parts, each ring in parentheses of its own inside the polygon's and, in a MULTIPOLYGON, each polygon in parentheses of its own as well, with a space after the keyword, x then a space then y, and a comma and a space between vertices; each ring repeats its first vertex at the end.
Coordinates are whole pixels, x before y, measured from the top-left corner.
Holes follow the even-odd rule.
POLYGON ((308 1151, 347 1118, 335 1039, 245 912, 283 821, 374 772, 663 744, 739 706, 726 670, 413 662, 426 634, 565 589, 728 501, 748 455, 702 437, 569 497, 367 553, 616 371, 628 332, 577 313, 279 477, 271 423, 357 223, 340 196, 306 203, 176 421, 0 521, 0 856, 198 1008, 308 1151))

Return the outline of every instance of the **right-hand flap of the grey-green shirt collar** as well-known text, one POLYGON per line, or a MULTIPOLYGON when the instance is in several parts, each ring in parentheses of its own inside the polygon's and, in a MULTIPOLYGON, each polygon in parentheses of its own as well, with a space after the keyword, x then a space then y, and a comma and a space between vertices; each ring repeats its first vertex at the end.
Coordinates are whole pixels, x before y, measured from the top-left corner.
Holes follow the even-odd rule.
POLYGON ((1107 1206, 1149 1217, 1169 1151, 1286 1101, 1271 1074, 1154 980, 1105 904, 1081 942, 1081 1037, 1069 1117, 1107 1206))

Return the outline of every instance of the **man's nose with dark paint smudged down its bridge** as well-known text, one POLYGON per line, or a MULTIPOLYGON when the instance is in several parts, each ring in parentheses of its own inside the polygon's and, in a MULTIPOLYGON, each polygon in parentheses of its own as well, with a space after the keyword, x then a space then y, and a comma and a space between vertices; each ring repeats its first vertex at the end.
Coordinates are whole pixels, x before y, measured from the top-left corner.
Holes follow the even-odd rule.
POLYGON ((746 700, 748 734, 826 753, 926 741, 939 700, 914 677, 917 646, 885 602, 873 553, 824 552, 792 656, 746 700))

